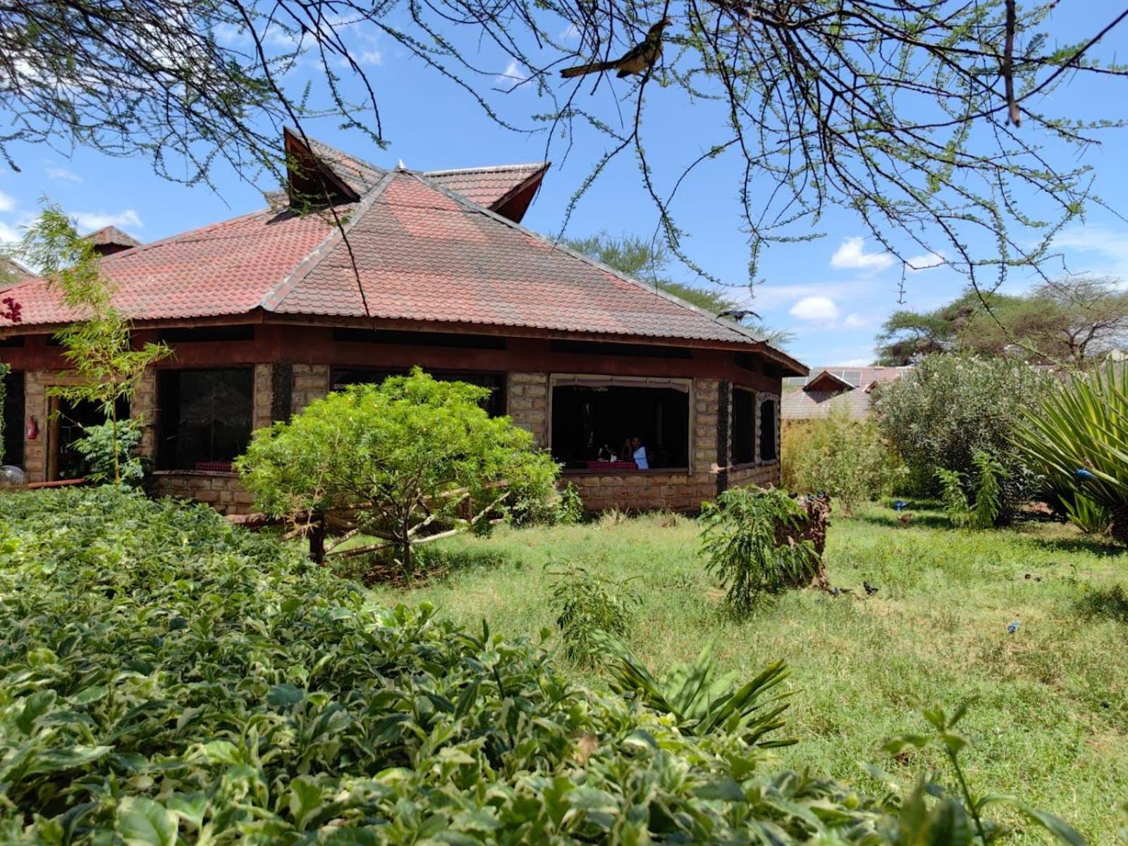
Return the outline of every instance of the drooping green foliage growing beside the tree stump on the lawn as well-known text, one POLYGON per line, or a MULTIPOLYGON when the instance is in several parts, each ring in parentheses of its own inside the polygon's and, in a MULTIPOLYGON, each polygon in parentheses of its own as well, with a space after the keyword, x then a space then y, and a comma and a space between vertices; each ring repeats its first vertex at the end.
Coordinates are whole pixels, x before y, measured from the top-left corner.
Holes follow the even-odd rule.
POLYGON ((732 487, 705 503, 705 567, 728 588, 725 602, 737 614, 751 611, 764 593, 802 587, 818 574, 819 554, 811 543, 784 537, 797 531, 804 517, 779 488, 732 487))

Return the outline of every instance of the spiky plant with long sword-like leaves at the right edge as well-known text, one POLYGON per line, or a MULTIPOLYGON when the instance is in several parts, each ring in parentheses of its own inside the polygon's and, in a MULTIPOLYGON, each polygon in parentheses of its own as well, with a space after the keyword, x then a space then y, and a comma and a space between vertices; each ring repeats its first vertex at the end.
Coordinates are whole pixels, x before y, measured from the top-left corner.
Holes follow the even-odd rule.
POLYGON ((1015 443, 1050 484, 1103 505, 1128 544, 1128 367, 1108 362, 1045 397, 1015 443))

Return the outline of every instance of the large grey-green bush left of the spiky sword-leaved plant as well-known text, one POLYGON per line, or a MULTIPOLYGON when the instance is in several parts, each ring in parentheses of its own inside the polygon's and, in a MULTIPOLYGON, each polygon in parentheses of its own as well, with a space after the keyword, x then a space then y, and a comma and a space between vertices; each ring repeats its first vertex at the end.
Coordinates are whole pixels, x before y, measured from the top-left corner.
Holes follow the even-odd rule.
POLYGON ((1003 468, 999 520, 1039 490, 1012 439, 1030 403, 1056 388, 1050 373, 1004 359, 929 355, 878 388, 878 425, 908 468, 908 487, 940 493, 936 470, 976 475, 981 451, 1003 468))

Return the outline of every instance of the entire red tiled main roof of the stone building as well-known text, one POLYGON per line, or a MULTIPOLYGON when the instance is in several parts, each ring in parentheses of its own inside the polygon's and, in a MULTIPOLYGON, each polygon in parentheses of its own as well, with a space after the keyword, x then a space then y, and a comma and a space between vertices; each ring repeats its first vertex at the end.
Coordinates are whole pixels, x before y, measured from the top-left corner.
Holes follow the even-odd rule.
MULTIPOLYGON (((115 305, 135 320, 256 309, 363 318, 367 300, 368 314, 384 319, 761 345, 749 331, 557 246, 431 176, 362 174, 352 168, 364 162, 349 157, 343 166, 333 155, 324 164, 336 178, 362 185, 379 175, 361 202, 337 206, 349 248, 325 212, 263 210, 103 258, 118 287, 115 305)), ((21 285, 18 299, 25 326, 77 317, 44 280, 21 285)))

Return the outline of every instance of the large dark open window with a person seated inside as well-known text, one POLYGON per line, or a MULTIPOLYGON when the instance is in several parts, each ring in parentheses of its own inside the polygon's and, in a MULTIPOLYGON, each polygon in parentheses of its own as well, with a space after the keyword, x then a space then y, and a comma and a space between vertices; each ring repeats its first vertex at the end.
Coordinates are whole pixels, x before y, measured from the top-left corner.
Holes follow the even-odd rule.
POLYGON ((688 385, 635 387, 626 379, 607 382, 554 385, 553 457, 566 469, 606 468, 609 453, 629 460, 629 441, 638 438, 651 469, 688 467, 688 385))

